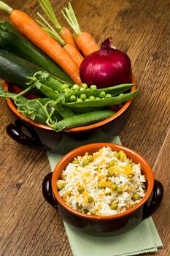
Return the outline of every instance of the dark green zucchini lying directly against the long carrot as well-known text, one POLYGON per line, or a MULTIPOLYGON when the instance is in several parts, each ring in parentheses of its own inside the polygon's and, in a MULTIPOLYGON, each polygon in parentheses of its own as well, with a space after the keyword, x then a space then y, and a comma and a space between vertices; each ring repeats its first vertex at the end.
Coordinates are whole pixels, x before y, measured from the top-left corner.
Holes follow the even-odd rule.
MULTIPOLYGON (((36 34, 35 34, 36 37, 36 34)), ((71 78, 42 50, 36 48, 23 34, 15 29, 11 23, 0 20, 0 48, 9 51, 22 59, 36 64, 61 80, 72 83, 71 78)))

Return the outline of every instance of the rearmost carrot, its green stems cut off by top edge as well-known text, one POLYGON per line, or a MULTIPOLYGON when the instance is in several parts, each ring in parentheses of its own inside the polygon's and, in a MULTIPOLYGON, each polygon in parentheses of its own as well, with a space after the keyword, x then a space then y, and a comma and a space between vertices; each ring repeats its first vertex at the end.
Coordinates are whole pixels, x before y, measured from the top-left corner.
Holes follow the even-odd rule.
POLYGON ((61 26, 61 24, 58 22, 55 13, 53 11, 53 8, 50 4, 49 0, 39 0, 39 5, 42 7, 42 10, 46 13, 47 17, 51 20, 53 25, 55 26, 55 29, 58 30, 58 34, 61 36, 61 38, 67 43, 72 45, 74 48, 77 48, 76 42, 74 40, 74 37, 72 36, 72 33, 69 31, 69 29, 66 29, 64 26, 61 26))

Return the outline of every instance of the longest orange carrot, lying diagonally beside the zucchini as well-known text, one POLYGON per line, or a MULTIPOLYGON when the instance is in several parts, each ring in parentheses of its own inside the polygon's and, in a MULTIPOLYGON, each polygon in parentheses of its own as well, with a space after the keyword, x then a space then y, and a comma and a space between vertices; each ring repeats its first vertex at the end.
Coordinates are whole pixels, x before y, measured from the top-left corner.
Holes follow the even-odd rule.
POLYGON ((31 17, 20 10, 12 10, 7 4, 0 1, 0 10, 9 13, 9 18, 13 25, 24 34, 31 42, 38 48, 50 56, 53 61, 72 78, 74 83, 81 84, 79 69, 77 64, 70 58, 69 54, 55 41, 49 34, 47 34, 31 17))

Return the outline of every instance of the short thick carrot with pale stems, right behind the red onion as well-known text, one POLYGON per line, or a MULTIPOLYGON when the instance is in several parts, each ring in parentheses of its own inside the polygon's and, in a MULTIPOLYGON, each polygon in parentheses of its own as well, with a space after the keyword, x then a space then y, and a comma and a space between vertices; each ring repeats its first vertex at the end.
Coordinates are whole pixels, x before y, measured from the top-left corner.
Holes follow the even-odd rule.
POLYGON ((76 43, 77 47, 82 51, 85 56, 88 56, 90 53, 93 53, 96 50, 99 50, 99 47, 95 39, 88 33, 82 32, 80 30, 79 23, 72 9, 72 5, 69 3, 68 7, 65 7, 62 11, 63 17, 69 23, 69 25, 74 30, 74 33, 77 35, 76 43))

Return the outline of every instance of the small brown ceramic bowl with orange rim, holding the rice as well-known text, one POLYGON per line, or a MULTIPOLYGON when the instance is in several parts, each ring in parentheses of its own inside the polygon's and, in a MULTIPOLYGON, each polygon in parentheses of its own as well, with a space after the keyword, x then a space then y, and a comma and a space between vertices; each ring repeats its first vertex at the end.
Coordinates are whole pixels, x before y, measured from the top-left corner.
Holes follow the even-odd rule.
POLYGON ((42 184, 42 192, 47 202, 54 206, 63 220, 69 223, 69 225, 72 225, 72 227, 95 236, 109 236, 124 233, 138 225, 142 219, 150 217, 161 204, 163 186, 159 181, 154 180, 152 169, 148 162, 132 149, 113 143, 94 143, 76 148, 66 154, 60 162, 58 162, 54 172, 49 173, 45 177, 42 184), (147 191, 144 198, 133 208, 120 214, 97 217, 82 214, 80 211, 75 211, 66 205, 58 194, 56 184, 58 179, 61 178, 62 170, 66 168, 69 162, 73 161, 74 157, 82 156, 85 152, 93 154, 103 146, 109 146, 113 151, 122 150, 127 154, 129 159, 140 163, 142 174, 144 174, 147 180, 147 191))

